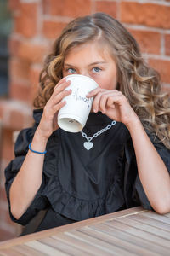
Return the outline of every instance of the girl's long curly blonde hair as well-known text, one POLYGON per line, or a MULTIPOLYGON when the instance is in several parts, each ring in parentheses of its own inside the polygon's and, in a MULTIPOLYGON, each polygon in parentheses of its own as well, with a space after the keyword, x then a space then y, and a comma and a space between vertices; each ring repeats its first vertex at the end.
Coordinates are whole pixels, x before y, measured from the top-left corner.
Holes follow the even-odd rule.
POLYGON ((77 45, 98 40, 111 49, 118 70, 117 89, 127 97, 146 131, 170 149, 170 101, 161 93, 159 74, 148 67, 139 45, 117 20, 96 13, 72 20, 54 43, 40 74, 34 107, 43 108, 62 79, 65 56, 77 45))

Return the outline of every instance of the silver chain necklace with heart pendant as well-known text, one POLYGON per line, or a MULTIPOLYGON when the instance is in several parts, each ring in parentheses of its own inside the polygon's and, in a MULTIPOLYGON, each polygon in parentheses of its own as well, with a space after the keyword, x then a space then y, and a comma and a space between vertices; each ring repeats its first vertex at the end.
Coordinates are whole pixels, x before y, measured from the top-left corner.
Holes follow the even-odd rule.
POLYGON ((82 137, 85 137, 87 139, 87 142, 85 142, 83 144, 84 148, 86 148, 87 150, 90 150, 91 148, 93 148, 94 143, 92 143, 91 141, 94 139, 94 137, 98 137, 103 132, 110 130, 113 125, 116 125, 116 121, 112 121, 111 125, 107 125, 105 128, 101 129, 100 131, 97 131, 96 133, 94 133, 94 135, 92 137, 87 137, 87 134, 85 132, 81 131, 82 137))

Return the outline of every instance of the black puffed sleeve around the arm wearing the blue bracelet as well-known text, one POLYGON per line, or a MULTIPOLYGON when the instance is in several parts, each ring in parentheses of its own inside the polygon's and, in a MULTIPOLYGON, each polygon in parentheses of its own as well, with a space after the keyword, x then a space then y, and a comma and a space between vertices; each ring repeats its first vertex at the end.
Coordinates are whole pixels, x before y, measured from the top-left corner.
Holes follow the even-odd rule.
POLYGON ((31 143, 34 132, 35 132, 34 128, 28 128, 20 131, 20 134, 17 137, 16 143, 14 145, 15 158, 14 160, 11 160, 11 162, 8 164, 8 166, 5 169, 5 178, 6 178, 5 189, 6 189, 7 198, 8 198, 9 214, 14 222, 17 222, 23 225, 28 224, 31 218, 36 216, 37 212, 44 209, 47 204, 47 200, 43 198, 41 195, 41 191, 44 183, 42 182, 40 189, 37 191, 37 195, 35 196, 34 200, 31 203, 31 206, 19 219, 14 218, 14 216, 10 211, 9 189, 11 187, 11 184, 14 181, 14 177, 20 171, 20 167, 22 166, 22 163, 25 160, 26 154, 28 152, 28 145, 29 143, 31 143))

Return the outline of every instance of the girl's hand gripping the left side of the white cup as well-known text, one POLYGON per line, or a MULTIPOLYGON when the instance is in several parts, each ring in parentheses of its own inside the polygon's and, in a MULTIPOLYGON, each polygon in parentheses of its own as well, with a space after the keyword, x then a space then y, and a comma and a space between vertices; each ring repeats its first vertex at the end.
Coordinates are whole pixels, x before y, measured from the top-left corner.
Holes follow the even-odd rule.
POLYGON ((63 98, 71 94, 71 90, 65 90, 70 84, 71 82, 64 78, 54 87, 54 92, 43 109, 42 119, 37 127, 37 133, 41 137, 48 138, 53 131, 59 129, 57 116, 59 109, 65 106, 66 102, 62 102, 63 98))

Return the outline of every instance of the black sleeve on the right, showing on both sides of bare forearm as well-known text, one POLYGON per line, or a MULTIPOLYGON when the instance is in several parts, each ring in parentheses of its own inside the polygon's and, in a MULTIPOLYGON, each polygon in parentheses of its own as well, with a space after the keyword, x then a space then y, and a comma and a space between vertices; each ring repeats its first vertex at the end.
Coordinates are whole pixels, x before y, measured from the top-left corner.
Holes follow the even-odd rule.
MULTIPOLYGON (((167 171, 170 173, 170 150, 166 148, 162 143, 154 142, 153 138, 150 137, 151 142, 156 148, 157 153, 161 156, 167 171)), ((150 206, 150 202, 144 193, 142 183, 140 182, 139 175, 137 175, 134 187, 133 187, 133 200, 138 201, 144 209, 153 210, 150 206)))

